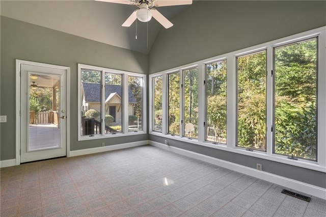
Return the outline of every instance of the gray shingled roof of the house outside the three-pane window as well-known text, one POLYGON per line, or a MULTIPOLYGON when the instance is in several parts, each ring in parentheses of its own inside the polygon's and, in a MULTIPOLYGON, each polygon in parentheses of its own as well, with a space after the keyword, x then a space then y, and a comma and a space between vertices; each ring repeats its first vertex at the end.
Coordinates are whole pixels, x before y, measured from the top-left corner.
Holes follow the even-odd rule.
MULTIPOLYGON (((82 82, 85 101, 86 102, 100 102, 100 84, 95 83, 85 83, 82 82)), ((110 96, 111 93, 117 93, 121 97, 121 86, 120 85, 105 85, 105 99, 110 96)), ((129 103, 135 103, 136 100, 134 98, 133 93, 131 93, 131 89, 128 88, 129 93, 129 103)))

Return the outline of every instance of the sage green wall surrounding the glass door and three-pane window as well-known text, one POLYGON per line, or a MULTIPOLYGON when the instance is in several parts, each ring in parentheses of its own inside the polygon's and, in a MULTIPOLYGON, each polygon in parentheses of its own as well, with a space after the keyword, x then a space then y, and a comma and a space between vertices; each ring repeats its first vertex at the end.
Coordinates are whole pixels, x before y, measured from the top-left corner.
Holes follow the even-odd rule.
MULTIPOLYGON (((87 30, 85 30, 87 31, 87 30)), ((148 135, 77 141, 77 64, 147 73, 143 53, 95 42, 38 25, 1 17, 1 160, 15 158, 16 59, 70 67, 70 150, 147 140, 148 135)))

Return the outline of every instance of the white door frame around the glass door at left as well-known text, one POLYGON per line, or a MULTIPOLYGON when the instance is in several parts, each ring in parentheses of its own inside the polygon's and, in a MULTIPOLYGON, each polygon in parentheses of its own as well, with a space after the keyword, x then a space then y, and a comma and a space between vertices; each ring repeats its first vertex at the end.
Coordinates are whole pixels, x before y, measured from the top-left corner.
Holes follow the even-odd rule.
POLYGON ((38 66, 38 67, 46 67, 53 69, 61 69, 66 71, 67 79, 66 79, 66 88, 67 88, 67 96, 66 96, 66 154, 67 157, 70 156, 70 67, 67 66, 58 66, 46 63, 38 63, 32 61, 18 60, 16 59, 16 165, 20 165, 20 67, 21 64, 38 66))

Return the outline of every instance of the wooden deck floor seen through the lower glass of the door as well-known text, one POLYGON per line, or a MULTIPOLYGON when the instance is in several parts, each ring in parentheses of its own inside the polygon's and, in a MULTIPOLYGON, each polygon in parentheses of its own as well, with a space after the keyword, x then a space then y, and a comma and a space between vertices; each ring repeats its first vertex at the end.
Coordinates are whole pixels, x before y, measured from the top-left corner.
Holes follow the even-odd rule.
POLYGON ((30 124, 29 150, 60 146, 59 127, 55 124, 30 124))

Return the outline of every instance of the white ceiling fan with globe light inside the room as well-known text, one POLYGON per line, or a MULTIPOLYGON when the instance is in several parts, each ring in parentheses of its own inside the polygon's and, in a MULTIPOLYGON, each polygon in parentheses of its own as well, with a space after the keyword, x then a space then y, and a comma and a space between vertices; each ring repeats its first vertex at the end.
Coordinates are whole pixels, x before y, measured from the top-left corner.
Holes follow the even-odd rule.
POLYGON ((136 19, 142 22, 148 22, 154 17, 166 29, 173 26, 165 16, 159 13, 153 7, 191 5, 193 0, 95 0, 100 2, 110 2, 125 5, 135 5, 139 9, 134 10, 122 26, 129 27, 136 19))

